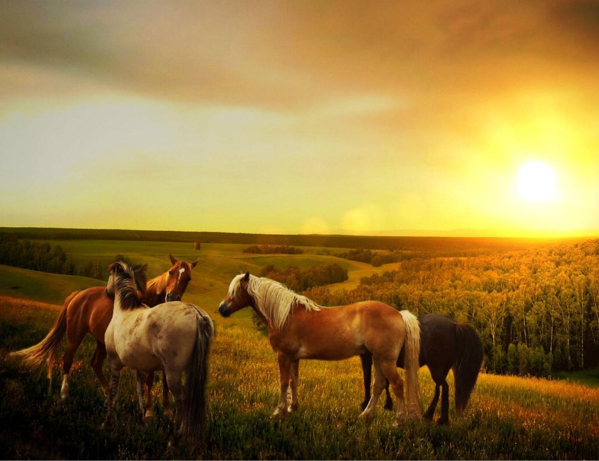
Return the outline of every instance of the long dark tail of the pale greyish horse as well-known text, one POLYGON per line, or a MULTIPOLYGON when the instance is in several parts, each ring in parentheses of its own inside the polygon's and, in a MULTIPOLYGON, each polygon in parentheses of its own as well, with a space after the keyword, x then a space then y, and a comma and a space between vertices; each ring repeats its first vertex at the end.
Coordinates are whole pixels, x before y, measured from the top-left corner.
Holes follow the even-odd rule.
MULTIPOLYGON (((197 309, 197 308, 196 308, 197 309)), ((198 336, 185 383, 185 401, 182 430, 189 436, 201 436, 206 420, 206 378, 208 376, 208 353, 214 335, 214 324, 208 314, 198 309, 198 336)))

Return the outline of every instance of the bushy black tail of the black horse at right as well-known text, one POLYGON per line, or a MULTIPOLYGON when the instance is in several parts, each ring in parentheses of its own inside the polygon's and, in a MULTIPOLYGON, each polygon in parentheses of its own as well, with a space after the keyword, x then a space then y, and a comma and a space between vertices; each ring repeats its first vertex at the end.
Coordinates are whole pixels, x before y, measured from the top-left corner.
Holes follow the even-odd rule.
POLYGON ((476 330, 467 323, 456 323, 456 360, 453 363, 455 380, 455 409, 461 414, 479 377, 483 362, 483 343, 476 330))

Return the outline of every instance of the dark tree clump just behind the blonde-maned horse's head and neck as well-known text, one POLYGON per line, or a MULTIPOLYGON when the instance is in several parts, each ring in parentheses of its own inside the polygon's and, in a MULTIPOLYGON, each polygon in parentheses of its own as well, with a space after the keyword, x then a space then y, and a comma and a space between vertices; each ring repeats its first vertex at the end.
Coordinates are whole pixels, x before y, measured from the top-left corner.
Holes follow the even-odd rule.
POLYGON ((347 280, 347 269, 337 263, 325 266, 310 266, 299 269, 297 266, 289 266, 286 269, 277 269, 272 264, 262 268, 260 277, 268 277, 294 290, 301 292, 311 287, 339 283, 347 280))

